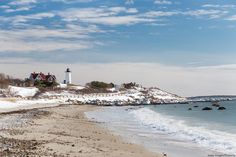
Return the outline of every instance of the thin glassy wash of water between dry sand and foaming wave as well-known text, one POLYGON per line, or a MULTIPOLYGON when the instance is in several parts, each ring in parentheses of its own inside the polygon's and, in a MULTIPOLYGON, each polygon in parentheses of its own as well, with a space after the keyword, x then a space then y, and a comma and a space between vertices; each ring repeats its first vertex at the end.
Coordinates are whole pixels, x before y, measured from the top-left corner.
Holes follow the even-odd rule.
POLYGON ((88 112, 86 115, 91 120, 102 122, 100 124, 101 126, 121 136, 123 139, 131 143, 142 145, 152 152, 163 152, 167 154, 167 156, 175 157, 207 157, 209 154, 222 155, 222 153, 218 151, 210 150, 196 145, 195 143, 187 142, 183 139, 175 139, 169 135, 156 132, 155 126, 153 125, 148 128, 145 125, 140 125, 137 120, 134 120, 134 117, 127 114, 129 111, 135 111, 136 109, 127 107, 123 109, 104 107, 101 110, 88 112))

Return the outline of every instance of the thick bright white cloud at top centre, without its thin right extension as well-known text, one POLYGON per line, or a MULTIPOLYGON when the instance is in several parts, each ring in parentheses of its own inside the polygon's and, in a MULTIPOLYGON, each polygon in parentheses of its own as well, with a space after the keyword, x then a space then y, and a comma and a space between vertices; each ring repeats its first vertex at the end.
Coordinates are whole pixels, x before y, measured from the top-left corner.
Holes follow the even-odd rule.
POLYGON ((144 22, 154 22, 154 19, 141 17, 135 8, 125 7, 100 7, 85 9, 68 9, 59 12, 64 21, 82 21, 85 23, 95 23, 103 25, 131 25, 144 22), (125 15, 120 15, 125 13, 125 15))

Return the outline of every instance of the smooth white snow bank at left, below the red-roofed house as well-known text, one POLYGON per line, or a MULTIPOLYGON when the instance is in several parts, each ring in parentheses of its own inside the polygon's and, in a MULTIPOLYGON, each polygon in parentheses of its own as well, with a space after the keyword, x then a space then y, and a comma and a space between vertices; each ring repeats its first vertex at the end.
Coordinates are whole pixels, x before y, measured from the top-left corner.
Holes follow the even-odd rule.
POLYGON ((33 97, 39 90, 35 87, 16 87, 9 86, 8 87, 9 94, 13 96, 21 96, 25 97, 33 97))

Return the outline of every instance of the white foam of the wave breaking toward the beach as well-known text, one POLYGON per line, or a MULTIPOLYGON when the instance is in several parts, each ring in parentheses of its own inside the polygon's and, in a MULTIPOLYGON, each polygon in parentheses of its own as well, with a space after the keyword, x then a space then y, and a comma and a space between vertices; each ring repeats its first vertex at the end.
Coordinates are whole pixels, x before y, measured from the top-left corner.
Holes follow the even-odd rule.
POLYGON ((236 135, 204 127, 188 126, 185 121, 162 115, 148 108, 129 112, 142 125, 159 133, 168 134, 198 144, 200 147, 227 154, 236 154, 236 135))

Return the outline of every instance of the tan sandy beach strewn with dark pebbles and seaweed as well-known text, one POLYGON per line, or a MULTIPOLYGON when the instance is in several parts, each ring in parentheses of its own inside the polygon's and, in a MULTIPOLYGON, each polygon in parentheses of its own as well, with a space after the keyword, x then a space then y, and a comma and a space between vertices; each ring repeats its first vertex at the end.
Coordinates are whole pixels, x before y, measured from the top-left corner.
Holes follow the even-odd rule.
POLYGON ((0 156, 160 157, 84 116, 93 106, 61 105, 1 113, 0 156), (10 121, 9 121, 10 119, 10 121))

